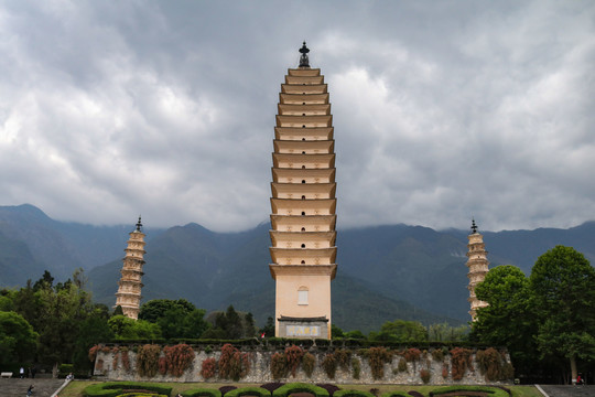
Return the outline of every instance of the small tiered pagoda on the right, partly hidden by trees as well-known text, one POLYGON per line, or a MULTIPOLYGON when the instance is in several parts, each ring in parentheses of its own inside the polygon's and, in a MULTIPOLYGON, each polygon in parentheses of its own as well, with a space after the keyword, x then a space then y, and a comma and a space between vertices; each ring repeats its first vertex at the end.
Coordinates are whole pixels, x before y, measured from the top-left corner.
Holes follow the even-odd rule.
POLYGON ((469 314, 472 321, 475 321, 476 312, 478 308, 485 308, 488 305, 487 302, 480 301, 475 296, 475 287, 485 280, 488 272, 489 261, 487 260, 486 245, 484 244, 484 236, 477 232, 477 225, 475 219, 472 221, 472 234, 468 235, 469 244, 467 244, 467 267, 469 272, 467 277, 469 278, 469 304, 470 310, 469 314))

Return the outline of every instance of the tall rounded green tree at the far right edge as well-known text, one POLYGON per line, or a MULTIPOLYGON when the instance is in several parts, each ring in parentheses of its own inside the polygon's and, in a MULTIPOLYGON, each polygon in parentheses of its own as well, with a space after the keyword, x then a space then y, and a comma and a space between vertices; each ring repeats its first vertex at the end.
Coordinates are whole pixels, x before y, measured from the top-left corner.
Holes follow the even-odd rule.
POLYGON ((532 307, 542 357, 564 357, 576 380, 576 360, 595 358, 595 269, 572 247, 556 246, 531 270, 532 307))

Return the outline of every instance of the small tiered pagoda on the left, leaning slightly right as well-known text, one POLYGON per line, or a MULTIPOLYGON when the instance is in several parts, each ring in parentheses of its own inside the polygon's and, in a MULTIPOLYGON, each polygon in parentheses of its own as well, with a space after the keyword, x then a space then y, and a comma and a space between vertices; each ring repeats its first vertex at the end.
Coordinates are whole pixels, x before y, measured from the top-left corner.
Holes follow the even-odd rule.
POLYGON ((122 308, 125 315, 137 320, 139 318, 142 266, 144 265, 144 233, 142 233, 142 223, 139 216, 137 228, 130 233, 128 247, 125 249, 126 256, 122 259, 123 266, 120 282, 118 282, 118 292, 116 293, 116 305, 122 308))

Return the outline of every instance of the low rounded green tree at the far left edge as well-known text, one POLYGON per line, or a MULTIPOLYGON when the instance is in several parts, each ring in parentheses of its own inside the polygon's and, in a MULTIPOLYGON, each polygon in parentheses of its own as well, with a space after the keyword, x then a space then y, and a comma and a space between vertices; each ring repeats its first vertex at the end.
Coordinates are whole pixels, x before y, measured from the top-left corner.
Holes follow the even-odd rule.
POLYGON ((37 336, 21 314, 0 311, 0 364, 22 363, 32 358, 37 336))

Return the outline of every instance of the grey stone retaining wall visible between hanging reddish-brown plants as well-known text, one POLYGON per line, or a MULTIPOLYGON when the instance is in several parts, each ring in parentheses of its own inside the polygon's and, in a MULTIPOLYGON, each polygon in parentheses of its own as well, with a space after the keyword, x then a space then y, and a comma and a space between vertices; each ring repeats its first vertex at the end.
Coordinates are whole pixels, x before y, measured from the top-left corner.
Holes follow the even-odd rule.
MULTIPOLYGON (((181 377, 174 377, 170 374, 161 375, 156 374, 152 378, 141 377, 136 371, 137 364, 137 354, 136 350, 138 346, 128 346, 128 362, 129 368, 127 369, 122 363, 122 346, 119 346, 120 353, 113 353, 116 351, 115 345, 110 346, 99 346, 97 351, 97 356, 95 361, 94 376, 105 379, 105 380, 152 380, 152 382, 210 382, 210 383, 256 383, 264 384, 269 382, 304 382, 304 383, 331 383, 331 384, 404 384, 404 385, 421 385, 423 384, 421 378, 421 371, 428 369, 431 374, 429 385, 495 385, 495 384, 510 384, 510 382, 488 382, 485 376, 479 373, 476 354, 472 354, 472 366, 467 368, 465 375, 459 380, 454 380, 452 377, 452 357, 450 354, 446 354, 442 361, 434 358, 432 350, 421 351, 421 356, 419 360, 410 361, 407 363, 407 371, 399 371, 399 362, 404 357, 404 352, 392 353, 392 358, 390 362, 383 365, 383 377, 380 379, 374 379, 368 358, 366 357, 366 350, 354 350, 351 351, 351 360, 357 358, 359 361, 360 373, 359 378, 354 378, 354 372, 351 364, 348 368, 342 368, 337 363, 337 369, 334 378, 329 378, 325 371, 322 368, 321 363, 323 362, 326 354, 331 353, 333 350, 317 350, 314 347, 309 347, 306 352, 313 354, 316 357, 315 369, 311 377, 307 377, 302 367, 298 369, 295 377, 288 375, 285 378, 273 379, 271 375, 271 357, 275 352, 283 352, 283 350, 271 348, 268 350, 267 346, 247 346, 242 350, 242 353, 246 353, 250 363, 250 371, 248 375, 241 378, 239 382, 221 379, 218 376, 215 376, 210 379, 204 379, 201 376, 202 363, 206 358, 214 357, 219 360, 220 350, 213 350, 208 354, 205 351, 201 351, 199 347, 193 346, 194 350, 194 362, 192 366, 185 371, 181 377), (117 361, 117 368, 113 367, 115 356, 119 354, 117 361), (444 369, 446 368, 446 371, 444 369), (443 374, 446 373, 446 377, 443 377, 443 374)), ((208 350, 207 350, 208 351, 208 350)), ((163 356, 163 352, 161 353, 163 356)), ((510 363, 508 354, 505 354, 505 360, 507 363, 510 363)), ((349 362, 351 362, 351 360, 349 362)))

